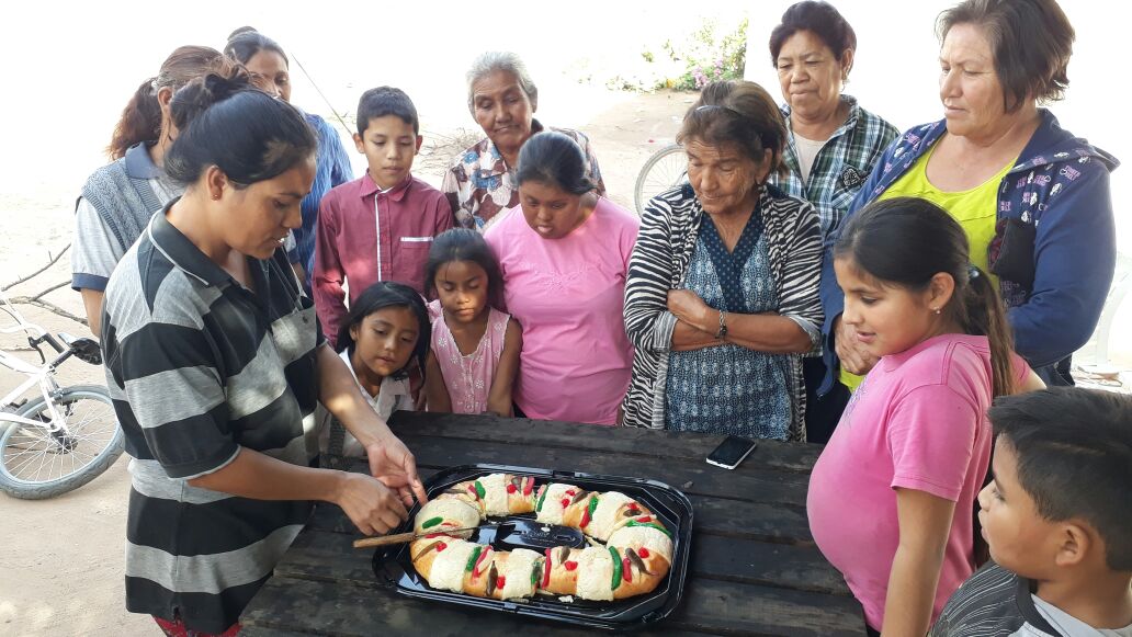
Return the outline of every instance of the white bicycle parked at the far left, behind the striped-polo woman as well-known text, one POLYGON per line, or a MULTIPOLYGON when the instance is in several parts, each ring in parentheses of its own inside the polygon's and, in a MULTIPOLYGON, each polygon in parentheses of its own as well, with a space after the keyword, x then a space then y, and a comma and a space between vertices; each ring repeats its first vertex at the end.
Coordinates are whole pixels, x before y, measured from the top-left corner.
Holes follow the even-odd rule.
POLYGON ((106 388, 60 387, 55 380, 55 370, 71 356, 101 365, 98 343, 63 333, 55 338, 24 320, 2 291, 0 310, 16 320, 15 327, 0 328, 0 334, 23 332, 42 361, 34 365, 0 351, 0 365, 27 377, 0 398, 0 491, 41 500, 78 489, 110 468, 122 454, 122 429, 106 388), (41 348, 44 343, 57 353, 50 362, 41 348), (20 399, 36 385, 40 396, 20 399))

